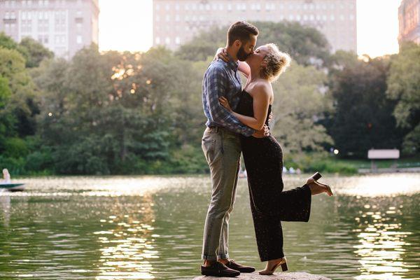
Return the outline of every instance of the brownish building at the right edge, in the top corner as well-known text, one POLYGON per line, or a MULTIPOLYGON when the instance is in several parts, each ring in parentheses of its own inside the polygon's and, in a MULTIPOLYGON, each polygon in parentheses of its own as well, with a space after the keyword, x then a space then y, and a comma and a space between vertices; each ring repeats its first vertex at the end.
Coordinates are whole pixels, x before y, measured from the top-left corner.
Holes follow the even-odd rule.
POLYGON ((398 8, 400 31, 398 43, 413 41, 420 44, 420 0, 402 0, 398 8))

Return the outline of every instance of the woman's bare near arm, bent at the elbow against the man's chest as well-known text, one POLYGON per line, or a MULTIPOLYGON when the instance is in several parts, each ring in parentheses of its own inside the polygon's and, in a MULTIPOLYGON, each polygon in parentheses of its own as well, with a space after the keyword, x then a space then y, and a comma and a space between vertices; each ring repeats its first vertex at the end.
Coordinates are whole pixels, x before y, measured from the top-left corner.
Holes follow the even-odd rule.
MULTIPOLYGON (((221 104, 228 110, 230 109, 230 105, 228 100, 225 97, 219 98, 221 104)), ((267 118, 269 106, 269 89, 265 85, 257 85, 253 89, 253 111, 254 116, 248 117, 241 115, 239 113, 235 113, 232 111, 232 114, 238 118, 238 120, 243 123, 244 125, 253 128, 254 130, 262 130, 264 127, 265 119, 267 118)))

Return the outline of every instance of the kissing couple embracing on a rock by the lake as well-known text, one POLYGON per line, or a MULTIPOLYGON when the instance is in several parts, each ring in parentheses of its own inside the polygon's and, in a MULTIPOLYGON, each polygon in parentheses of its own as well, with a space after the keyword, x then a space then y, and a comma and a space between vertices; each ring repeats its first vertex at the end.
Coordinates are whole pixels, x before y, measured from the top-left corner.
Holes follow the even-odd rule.
POLYGON ((203 275, 238 276, 254 272, 228 253, 229 217, 233 210, 241 153, 248 176, 251 213, 258 253, 267 262, 260 274, 287 270, 281 221, 309 221, 311 195, 332 195, 328 185, 310 177, 303 186, 283 191, 283 152, 269 133, 274 94, 271 83, 290 64, 290 57, 269 43, 254 50, 258 29, 236 22, 228 29, 204 73, 202 102, 207 117, 202 149, 210 167, 211 201, 204 225, 203 275), (240 73, 246 76, 242 89, 240 73))

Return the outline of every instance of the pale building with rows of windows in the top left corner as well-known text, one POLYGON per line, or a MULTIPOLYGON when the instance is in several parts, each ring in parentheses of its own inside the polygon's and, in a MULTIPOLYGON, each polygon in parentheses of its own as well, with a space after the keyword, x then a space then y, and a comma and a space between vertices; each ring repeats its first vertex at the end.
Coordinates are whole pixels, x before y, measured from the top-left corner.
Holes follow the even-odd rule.
POLYGON ((98 43, 98 0, 0 0, 0 31, 31 37, 58 57, 71 58, 98 43))

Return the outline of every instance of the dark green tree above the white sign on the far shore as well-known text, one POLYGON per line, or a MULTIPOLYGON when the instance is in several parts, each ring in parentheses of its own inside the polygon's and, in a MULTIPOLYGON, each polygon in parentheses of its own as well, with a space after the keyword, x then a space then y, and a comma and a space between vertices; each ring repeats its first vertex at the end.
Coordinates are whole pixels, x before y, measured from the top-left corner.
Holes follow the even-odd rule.
POLYGON ((340 155, 366 158, 370 148, 400 148, 404 132, 391 113, 395 102, 386 97, 389 59, 347 62, 330 76, 335 112, 326 123, 340 155))

